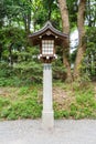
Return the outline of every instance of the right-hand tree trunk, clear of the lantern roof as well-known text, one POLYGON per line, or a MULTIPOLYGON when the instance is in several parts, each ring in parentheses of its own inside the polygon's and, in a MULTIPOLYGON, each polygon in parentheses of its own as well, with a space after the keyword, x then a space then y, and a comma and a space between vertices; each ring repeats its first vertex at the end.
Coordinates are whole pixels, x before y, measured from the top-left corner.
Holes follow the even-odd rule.
POLYGON ((78 6, 78 16, 77 16, 77 27, 78 27, 78 50, 74 66, 74 79, 77 79, 81 76, 81 64, 82 60, 86 50, 85 44, 85 28, 84 28, 84 21, 85 21, 85 9, 86 9, 86 0, 81 0, 78 6))

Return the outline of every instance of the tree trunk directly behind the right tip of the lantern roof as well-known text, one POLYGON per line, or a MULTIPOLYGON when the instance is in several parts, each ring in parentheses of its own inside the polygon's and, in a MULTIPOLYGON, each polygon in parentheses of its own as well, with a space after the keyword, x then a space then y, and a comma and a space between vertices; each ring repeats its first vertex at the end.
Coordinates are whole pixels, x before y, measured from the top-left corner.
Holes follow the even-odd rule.
MULTIPOLYGON (((70 35, 70 21, 68 21, 68 10, 66 6, 66 0, 58 0, 63 32, 70 35)), ((67 81, 72 81, 71 64, 70 64, 70 38, 64 40, 63 44, 63 63, 67 70, 67 81)))

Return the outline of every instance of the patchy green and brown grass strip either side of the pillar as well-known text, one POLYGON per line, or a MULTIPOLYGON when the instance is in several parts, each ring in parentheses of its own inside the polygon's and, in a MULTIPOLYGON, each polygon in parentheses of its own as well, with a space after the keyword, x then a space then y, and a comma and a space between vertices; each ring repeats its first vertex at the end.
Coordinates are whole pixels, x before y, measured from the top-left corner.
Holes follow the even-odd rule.
MULTIPOLYGON (((53 88, 55 119, 96 119, 93 84, 55 83, 53 88)), ((39 119, 41 114, 41 85, 0 88, 0 120, 39 119)))

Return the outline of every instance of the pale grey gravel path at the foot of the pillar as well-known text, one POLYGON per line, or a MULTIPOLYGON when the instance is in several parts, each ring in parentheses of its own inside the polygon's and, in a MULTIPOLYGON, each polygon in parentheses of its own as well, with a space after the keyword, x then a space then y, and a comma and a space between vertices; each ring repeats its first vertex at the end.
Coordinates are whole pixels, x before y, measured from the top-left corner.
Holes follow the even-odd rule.
POLYGON ((41 120, 0 122, 0 144, 96 144, 96 121, 55 121, 53 130, 41 120))

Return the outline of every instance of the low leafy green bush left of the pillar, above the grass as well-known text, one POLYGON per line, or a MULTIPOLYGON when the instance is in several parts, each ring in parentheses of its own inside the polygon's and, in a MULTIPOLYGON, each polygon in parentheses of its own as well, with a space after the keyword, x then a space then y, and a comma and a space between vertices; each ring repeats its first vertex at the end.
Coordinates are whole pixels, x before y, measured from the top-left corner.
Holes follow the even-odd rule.
POLYGON ((22 62, 15 66, 0 63, 0 86, 20 86, 42 82, 42 65, 36 62, 22 62))

